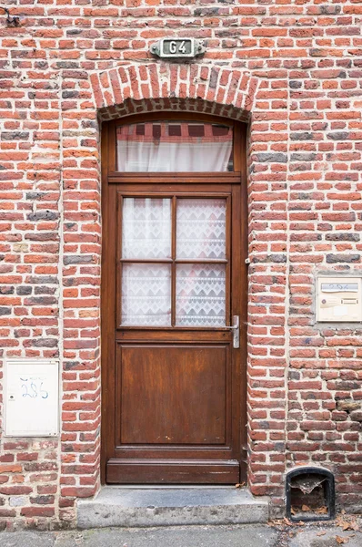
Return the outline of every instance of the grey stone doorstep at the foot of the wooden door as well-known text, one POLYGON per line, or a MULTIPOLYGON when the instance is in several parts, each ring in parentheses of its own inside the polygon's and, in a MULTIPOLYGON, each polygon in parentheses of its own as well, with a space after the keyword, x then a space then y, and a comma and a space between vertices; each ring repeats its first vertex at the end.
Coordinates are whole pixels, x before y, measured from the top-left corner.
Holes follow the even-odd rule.
POLYGON ((268 498, 235 487, 105 486, 92 500, 77 501, 77 526, 82 530, 267 520, 268 498))

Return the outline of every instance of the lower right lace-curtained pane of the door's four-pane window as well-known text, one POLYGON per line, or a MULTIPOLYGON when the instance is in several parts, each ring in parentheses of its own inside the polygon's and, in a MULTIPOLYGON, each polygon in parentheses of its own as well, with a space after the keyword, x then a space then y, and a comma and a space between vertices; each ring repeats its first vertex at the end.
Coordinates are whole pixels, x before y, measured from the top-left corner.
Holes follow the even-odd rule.
POLYGON ((226 325, 226 264, 177 264, 176 325, 226 325))

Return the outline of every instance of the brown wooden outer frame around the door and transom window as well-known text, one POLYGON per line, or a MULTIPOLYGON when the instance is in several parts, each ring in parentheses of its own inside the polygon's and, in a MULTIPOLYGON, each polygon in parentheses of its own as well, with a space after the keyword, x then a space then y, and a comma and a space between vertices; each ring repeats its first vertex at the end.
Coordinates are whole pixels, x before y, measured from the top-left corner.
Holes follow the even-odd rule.
MULTIPOLYGON (((246 133, 247 125, 245 122, 238 122, 234 119, 225 119, 222 117, 211 116, 206 114, 196 114, 192 112, 189 114, 192 121, 198 122, 212 122, 222 123, 223 121, 228 125, 233 124, 237 130, 234 137, 234 172, 220 172, 212 173, 214 178, 219 181, 230 182, 231 179, 235 181, 236 176, 240 183, 240 242, 241 242, 241 272, 240 280, 245 280, 245 283, 241 284, 241 302, 240 302, 240 360, 241 360, 241 378, 240 386, 240 442, 241 442, 241 459, 240 470, 242 474, 246 476, 246 457, 247 457, 247 413, 246 413, 246 394, 247 394, 247 378, 246 378, 246 360, 247 360, 247 301, 248 301, 248 284, 247 284, 247 264, 246 259, 248 256, 248 206, 247 206, 247 174, 246 174, 246 133)), ((106 461, 107 461, 107 439, 109 435, 113 435, 113 428, 111 427, 111 420, 107 420, 107 397, 110 394, 107 392, 107 386, 109 381, 109 367, 106 352, 106 342, 108 340, 109 329, 115 328, 114 322, 109 320, 110 311, 109 304, 106 301, 106 286, 108 283, 116 283, 115 279, 112 279, 105 271, 105 257, 106 253, 109 253, 110 242, 105 234, 110 230, 116 229, 116 219, 109 218, 108 212, 108 185, 109 182, 122 182, 122 179, 127 181, 134 180, 135 182, 148 182, 150 176, 154 173, 125 173, 122 174, 116 171, 116 126, 129 123, 141 123, 146 121, 158 121, 175 119, 178 121, 186 121, 188 113, 175 112, 175 111, 160 111, 150 112, 144 114, 135 114, 126 116, 116 120, 106 121, 102 125, 101 133, 101 174, 102 174, 102 200, 101 200, 101 214, 102 214, 102 261, 101 261, 101 484, 106 484, 106 461), (111 167, 114 169, 110 169, 111 167), (108 320, 106 319, 108 317, 108 320), (112 323, 112 325, 110 325, 112 323)), ((155 173, 156 174, 156 173, 155 173)), ((211 175, 203 172, 193 173, 176 173, 177 176, 185 182, 190 183, 205 183, 208 176, 211 175)), ((160 184, 167 181, 177 182, 175 175, 168 173, 161 173, 158 175, 160 184)), ((126 182, 126 181, 125 181, 126 182)), ((114 318, 116 320, 116 317, 114 318)), ((186 486, 186 485, 185 485, 186 486)))

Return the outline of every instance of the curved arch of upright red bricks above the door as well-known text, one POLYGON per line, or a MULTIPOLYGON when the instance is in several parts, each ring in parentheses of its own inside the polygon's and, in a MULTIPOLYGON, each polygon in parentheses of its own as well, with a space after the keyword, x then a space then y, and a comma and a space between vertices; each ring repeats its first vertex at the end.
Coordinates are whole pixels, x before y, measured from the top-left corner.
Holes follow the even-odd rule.
POLYGON ((149 63, 115 67, 90 77, 101 119, 172 109, 249 119, 258 79, 210 65, 149 63))

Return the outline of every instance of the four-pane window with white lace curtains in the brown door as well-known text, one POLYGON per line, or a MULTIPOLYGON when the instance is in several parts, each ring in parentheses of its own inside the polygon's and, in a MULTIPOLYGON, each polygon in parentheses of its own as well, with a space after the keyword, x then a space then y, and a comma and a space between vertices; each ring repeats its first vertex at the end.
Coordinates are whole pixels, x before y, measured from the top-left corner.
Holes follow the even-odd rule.
POLYGON ((121 209, 121 325, 226 325, 226 198, 124 197, 121 209))

